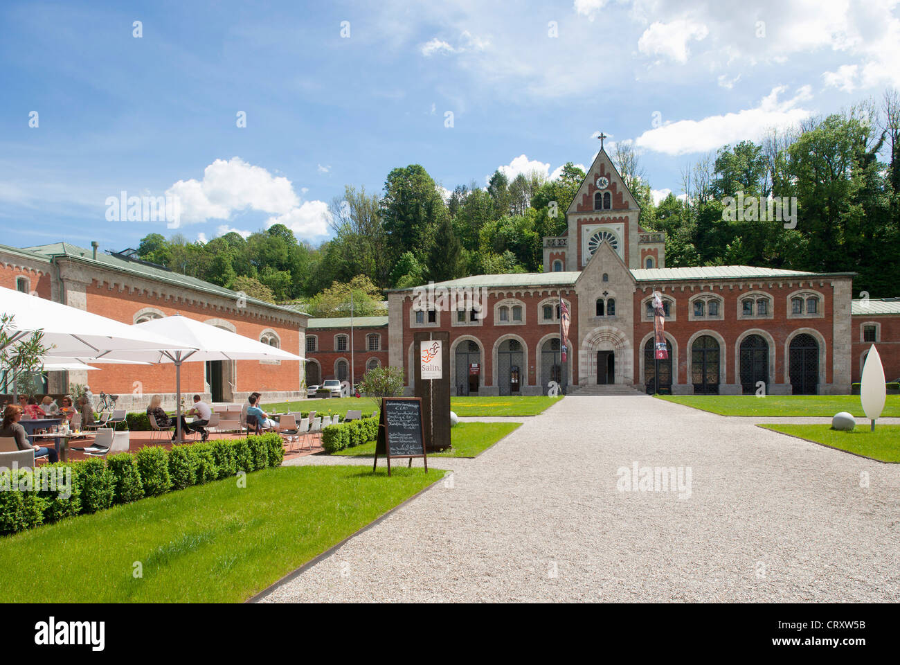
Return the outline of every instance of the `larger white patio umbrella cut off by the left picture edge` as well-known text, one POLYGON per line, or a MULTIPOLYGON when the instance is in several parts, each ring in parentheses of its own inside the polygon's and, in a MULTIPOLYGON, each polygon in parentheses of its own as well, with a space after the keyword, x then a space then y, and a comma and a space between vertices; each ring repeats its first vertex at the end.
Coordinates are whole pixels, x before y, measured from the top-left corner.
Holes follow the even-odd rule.
POLYGON ((62 357, 95 361, 112 351, 192 350, 192 347, 152 330, 136 328, 11 288, 0 287, 0 314, 14 316, 10 326, 12 334, 4 348, 41 331, 42 343, 49 347, 45 359, 62 357))

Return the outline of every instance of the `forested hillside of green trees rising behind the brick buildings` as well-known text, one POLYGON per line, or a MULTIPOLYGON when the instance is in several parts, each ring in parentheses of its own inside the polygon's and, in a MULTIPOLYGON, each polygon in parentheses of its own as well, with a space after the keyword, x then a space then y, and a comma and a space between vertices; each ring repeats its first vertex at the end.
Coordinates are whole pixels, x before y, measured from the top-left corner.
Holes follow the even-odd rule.
MULTIPOLYGON (((855 271, 854 296, 898 296, 898 127, 900 104, 888 92, 881 104, 773 131, 759 143, 723 146, 687 164, 681 196, 658 205, 630 144, 617 144, 611 157, 642 205, 644 228, 667 233, 669 267, 855 271), (738 193, 796 196, 796 227, 725 219, 723 200, 738 193)), ((565 209, 584 175, 572 162, 549 181, 538 175, 510 181, 497 171, 486 187, 473 181, 447 196, 411 164, 393 169, 379 193, 348 185, 330 206, 334 237, 319 247, 275 224, 246 239, 230 232, 205 244, 152 233, 138 249, 146 260, 252 296, 346 315, 339 303, 350 290, 355 304, 363 298, 374 306, 386 288, 541 270, 542 238, 564 232, 565 209), (367 279, 351 286, 357 276, 367 279)))

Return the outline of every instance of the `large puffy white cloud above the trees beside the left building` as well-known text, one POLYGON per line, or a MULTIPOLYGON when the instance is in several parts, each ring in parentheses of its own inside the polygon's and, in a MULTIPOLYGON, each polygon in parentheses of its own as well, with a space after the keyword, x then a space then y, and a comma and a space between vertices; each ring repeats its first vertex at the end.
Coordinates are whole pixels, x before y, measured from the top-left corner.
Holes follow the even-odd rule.
POLYGON ((202 180, 178 180, 166 196, 178 196, 181 223, 227 220, 241 210, 283 214, 300 204, 290 180, 239 157, 216 159, 203 169, 202 180))

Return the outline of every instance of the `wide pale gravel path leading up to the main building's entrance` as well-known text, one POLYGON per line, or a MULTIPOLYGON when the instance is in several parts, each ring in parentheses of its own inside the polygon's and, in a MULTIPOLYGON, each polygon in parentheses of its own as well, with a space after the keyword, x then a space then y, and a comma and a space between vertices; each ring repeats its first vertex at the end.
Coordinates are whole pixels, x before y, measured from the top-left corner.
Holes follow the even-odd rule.
POLYGON ((900 601, 900 465, 651 397, 523 420, 264 602, 900 601), (634 462, 689 496, 617 491, 634 462))

